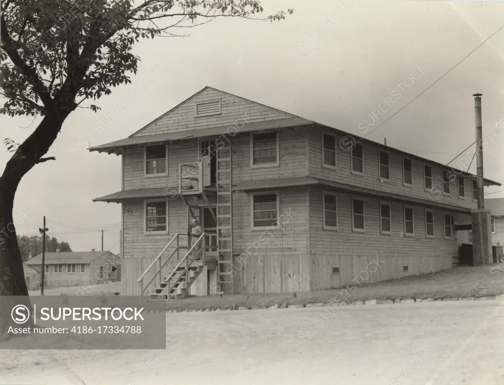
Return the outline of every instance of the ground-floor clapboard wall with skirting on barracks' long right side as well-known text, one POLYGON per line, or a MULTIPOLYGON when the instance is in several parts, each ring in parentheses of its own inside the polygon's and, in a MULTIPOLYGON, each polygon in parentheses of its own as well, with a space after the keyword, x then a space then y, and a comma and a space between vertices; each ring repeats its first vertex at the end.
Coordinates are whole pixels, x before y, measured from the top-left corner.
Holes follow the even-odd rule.
MULTIPOLYGON (((459 231, 452 239, 445 239, 443 211, 434 212, 434 238, 425 236, 425 209, 413 206, 414 237, 404 233, 404 205, 391 205, 392 234, 380 233, 379 199, 362 198, 349 194, 338 194, 338 230, 323 228, 322 188, 309 188, 309 249, 310 289, 323 290, 349 283, 373 258, 385 263, 375 272, 369 272, 366 282, 400 278, 451 268, 452 258, 458 256, 463 233, 459 231), (364 201, 365 232, 352 231, 352 197, 364 201), (460 235, 458 234, 460 233, 460 235), (339 267, 339 274, 332 274, 332 267, 339 267), (408 266, 408 272, 403 272, 408 266)), ((455 223, 470 222, 469 215, 455 215, 455 223)), ((374 270, 371 268, 370 270, 374 270)), ((366 270, 367 271, 367 270, 366 270)), ((367 273, 362 273, 367 276, 367 273)))

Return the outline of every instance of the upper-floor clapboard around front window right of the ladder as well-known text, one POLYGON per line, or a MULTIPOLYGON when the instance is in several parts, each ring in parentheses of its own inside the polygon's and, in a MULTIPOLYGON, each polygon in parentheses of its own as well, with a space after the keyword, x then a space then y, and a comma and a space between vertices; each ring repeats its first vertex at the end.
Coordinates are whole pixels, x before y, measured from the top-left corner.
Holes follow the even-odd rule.
POLYGON ((232 138, 233 184, 248 180, 267 178, 287 178, 306 176, 306 135, 307 128, 281 130, 279 139, 279 166, 250 167, 250 135, 232 138))

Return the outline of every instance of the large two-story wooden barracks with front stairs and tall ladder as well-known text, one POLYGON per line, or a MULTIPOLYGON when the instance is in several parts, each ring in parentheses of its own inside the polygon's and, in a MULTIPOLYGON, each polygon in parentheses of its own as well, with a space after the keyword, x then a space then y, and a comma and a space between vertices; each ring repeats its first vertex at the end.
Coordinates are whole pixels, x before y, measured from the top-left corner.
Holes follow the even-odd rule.
POLYGON ((123 295, 306 292, 451 268, 474 175, 349 135, 205 87, 90 148, 122 155, 121 190, 94 201, 122 204, 123 295), (188 251, 193 217, 204 235, 188 251))

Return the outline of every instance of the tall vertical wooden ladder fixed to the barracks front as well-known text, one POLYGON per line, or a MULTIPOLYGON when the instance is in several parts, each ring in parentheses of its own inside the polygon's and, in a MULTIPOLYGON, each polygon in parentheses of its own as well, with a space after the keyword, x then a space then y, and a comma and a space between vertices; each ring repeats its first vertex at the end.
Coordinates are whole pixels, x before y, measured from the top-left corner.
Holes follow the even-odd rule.
POLYGON ((217 279, 218 290, 233 293, 233 197, 231 138, 218 139, 217 162, 217 279), (227 143, 223 143, 228 141, 227 143), (224 144, 224 146, 222 146, 224 144), (219 145, 222 146, 219 148, 219 145))

